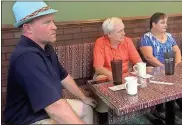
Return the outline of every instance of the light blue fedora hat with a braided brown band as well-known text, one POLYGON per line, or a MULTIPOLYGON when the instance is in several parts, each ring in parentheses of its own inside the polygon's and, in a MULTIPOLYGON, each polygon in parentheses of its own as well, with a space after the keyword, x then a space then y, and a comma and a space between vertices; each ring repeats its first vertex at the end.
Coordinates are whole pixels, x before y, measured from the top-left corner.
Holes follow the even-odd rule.
POLYGON ((39 16, 53 14, 58 10, 51 9, 43 0, 16 1, 13 5, 13 13, 16 19, 15 27, 20 27, 39 16))

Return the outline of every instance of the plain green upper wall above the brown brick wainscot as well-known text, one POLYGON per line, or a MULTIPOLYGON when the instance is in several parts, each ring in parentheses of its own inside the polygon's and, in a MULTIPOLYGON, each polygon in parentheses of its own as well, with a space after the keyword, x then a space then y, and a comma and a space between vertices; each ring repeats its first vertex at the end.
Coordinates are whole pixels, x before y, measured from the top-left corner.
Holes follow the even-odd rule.
MULTIPOLYGON (((2 24, 12 24, 14 2, 2 2, 2 24)), ((103 19, 111 16, 150 16, 160 11, 182 14, 182 2, 47 2, 59 10, 56 21, 103 19)))

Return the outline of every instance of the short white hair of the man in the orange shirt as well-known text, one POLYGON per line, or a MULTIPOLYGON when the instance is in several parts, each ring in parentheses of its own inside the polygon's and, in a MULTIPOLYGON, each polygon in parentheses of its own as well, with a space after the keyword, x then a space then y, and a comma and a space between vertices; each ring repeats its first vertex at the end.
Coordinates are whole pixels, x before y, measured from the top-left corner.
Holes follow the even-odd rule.
POLYGON ((106 19, 102 24, 102 30, 104 35, 108 35, 110 32, 114 30, 114 27, 118 23, 123 23, 122 19, 118 17, 111 17, 106 19))

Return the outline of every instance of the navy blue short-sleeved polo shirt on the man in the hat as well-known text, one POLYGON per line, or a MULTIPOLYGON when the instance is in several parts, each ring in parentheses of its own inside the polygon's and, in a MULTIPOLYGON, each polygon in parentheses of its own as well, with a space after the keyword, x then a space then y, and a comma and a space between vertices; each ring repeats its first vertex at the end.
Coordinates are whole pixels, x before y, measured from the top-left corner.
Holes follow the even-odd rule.
POLYGON ((21 36, 10 59, 5 122, 30 124, 49 118, 44 108, 62 98, 60 81, 67 75, 51 45, 42 49, 21 36))

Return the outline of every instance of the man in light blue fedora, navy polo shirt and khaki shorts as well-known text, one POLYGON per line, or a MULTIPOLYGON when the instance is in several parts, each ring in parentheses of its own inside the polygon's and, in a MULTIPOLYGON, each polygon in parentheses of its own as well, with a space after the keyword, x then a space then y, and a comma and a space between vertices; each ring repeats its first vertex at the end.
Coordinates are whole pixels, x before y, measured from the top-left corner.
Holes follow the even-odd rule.
POLYGON ((92 124, 95 101, 86 97, 58 62, 54 13, 45 2, 17 1, 15 27, 22 30, 9 65, 7 124, 92 124), (62 98, 62 86, 80 100, 62 98))

